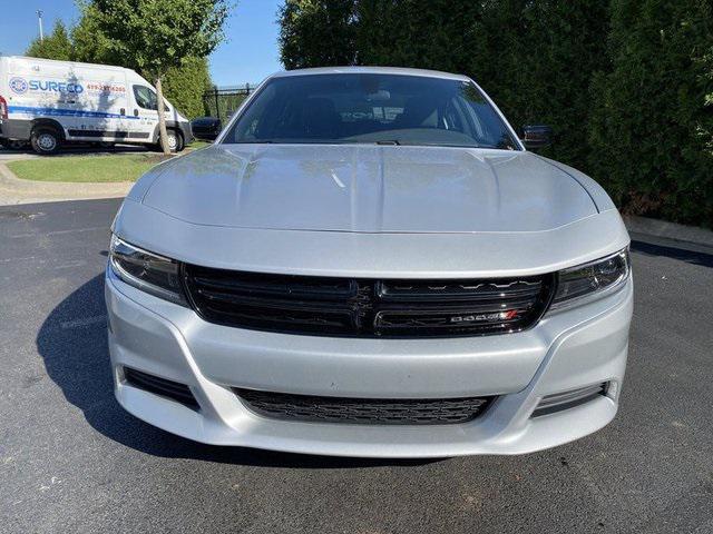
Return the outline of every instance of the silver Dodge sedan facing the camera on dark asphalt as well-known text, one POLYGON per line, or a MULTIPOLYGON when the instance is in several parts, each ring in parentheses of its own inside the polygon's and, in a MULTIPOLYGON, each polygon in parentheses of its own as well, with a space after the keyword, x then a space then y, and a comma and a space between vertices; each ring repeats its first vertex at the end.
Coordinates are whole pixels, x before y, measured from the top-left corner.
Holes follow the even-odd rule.
POLYGON ((629 237, 469 78, 281 72, 140 178, 106 270, 116 397, 203 443, 521 454, 609 423, 629 237))

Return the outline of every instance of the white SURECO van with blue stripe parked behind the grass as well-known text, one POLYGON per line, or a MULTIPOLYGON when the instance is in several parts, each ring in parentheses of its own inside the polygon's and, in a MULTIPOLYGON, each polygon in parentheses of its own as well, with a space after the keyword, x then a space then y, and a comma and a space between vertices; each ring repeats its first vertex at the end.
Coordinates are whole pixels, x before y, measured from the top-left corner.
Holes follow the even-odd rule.
MULTIPOLYGON (((156 91, 130 69, 0 57, 0 145, 29 141, 38 154, 65 142, 158 144, 156 91)), ((183 150, 191 123, 166 103, 168 145, 183 150)))

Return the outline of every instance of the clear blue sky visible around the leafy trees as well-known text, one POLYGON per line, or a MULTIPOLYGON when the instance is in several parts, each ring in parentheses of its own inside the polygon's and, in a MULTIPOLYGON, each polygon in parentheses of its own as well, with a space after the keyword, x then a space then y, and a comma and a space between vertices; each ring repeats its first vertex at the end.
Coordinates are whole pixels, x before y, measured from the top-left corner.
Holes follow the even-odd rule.
MULTIPOLYGON (((226 24, 227 42, 209 58, 217 86, 256 83, 282 70, 277 50, 277 8, 282 0, 238 0, 226 24)), ((22 55, 38 36, 41 9, 45 33, 60 18, 68 26, 79 18, 74 0, 0 0, 0 53, 22 55)))

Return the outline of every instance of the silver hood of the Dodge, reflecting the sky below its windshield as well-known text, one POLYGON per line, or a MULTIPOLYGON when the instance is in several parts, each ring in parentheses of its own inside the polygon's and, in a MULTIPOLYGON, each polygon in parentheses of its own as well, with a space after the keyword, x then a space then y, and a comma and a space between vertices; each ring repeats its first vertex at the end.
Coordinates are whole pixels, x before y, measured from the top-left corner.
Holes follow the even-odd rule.
POLYGON ((139 181, 145 206, 194 225, 350 233, 512 233, 597 214, 579 181, 522 151, 218 145, 139 181))

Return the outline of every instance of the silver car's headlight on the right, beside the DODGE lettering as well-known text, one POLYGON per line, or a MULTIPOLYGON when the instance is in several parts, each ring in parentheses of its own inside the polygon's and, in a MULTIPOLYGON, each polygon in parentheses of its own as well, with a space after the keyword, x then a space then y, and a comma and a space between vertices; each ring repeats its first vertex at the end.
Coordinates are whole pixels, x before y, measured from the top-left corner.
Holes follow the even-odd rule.
POLYGON ((628 276, 628 248, 589 264, 560 270, 550 309, 561 309, 608 295, 623 287, 628 276))

